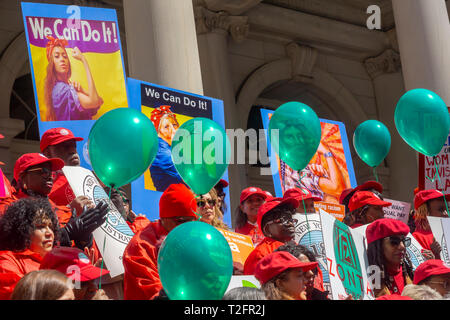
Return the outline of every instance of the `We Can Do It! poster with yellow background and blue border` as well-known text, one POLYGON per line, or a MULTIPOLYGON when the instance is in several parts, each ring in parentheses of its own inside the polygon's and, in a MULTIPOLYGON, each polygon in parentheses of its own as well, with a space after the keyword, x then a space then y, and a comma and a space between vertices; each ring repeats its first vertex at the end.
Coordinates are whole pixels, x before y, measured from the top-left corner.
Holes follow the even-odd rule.
POLYGON ((22 2, 39 133, 64 127, 91 168, 89 132, 106 112, 127 107, 125 68, 113 9, 22 2))

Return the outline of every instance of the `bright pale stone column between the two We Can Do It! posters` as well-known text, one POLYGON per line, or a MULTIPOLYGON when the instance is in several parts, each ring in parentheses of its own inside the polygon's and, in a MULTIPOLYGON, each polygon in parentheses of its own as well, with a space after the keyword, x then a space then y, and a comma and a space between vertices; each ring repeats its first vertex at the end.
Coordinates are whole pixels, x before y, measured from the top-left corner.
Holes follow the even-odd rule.
POLYGON ((192 1, 124 0, 130 77, 203 94, 192 1))

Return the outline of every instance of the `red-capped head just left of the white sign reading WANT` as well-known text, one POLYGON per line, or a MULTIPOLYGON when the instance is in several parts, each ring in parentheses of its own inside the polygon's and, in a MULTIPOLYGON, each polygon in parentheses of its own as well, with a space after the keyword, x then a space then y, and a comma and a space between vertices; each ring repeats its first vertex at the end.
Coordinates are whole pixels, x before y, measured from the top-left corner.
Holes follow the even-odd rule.
POLYGON ((350 227, 357 228, 383 218, 383 207, 389 207, 391 204, 381 200, 371 191, 356 191, 348 203, 350 214, 353 217, 350 227))

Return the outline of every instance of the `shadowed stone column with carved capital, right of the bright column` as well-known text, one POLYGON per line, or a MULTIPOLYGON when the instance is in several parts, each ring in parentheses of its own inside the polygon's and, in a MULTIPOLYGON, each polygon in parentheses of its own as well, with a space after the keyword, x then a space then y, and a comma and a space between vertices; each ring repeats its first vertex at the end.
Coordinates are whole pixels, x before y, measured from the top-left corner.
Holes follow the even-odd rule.
MULTIPOLYGON (((249 30, 248 18, 233 16, 223 11, 213 12, 203 6, 197 6, 195 21, 205 95, 223 101, 226 129, 240 128, 240 117, 245 115, 240 115, 236 109, 228 41, 240 42, 246 38, 249 30)), ((243 151, 235 149, 235 152, 243 151)), ((245 165, 236 164, 235 160, 236 156, 228 167, 231 213, 239 205, 241 190, 247 187, 245 165)))

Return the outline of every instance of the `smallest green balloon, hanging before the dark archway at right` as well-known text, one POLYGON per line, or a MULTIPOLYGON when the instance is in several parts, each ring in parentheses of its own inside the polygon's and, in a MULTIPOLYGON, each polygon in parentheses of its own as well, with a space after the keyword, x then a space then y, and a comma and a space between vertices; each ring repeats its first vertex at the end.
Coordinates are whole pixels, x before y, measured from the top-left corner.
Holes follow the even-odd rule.
POLYGON ((370 167, 378 166, 386 158, 391 148, 388 128, 377 120, 367 120, 356 128, 353 146, 362 161, 370 167))

